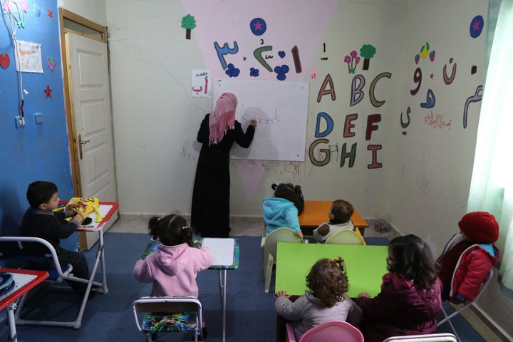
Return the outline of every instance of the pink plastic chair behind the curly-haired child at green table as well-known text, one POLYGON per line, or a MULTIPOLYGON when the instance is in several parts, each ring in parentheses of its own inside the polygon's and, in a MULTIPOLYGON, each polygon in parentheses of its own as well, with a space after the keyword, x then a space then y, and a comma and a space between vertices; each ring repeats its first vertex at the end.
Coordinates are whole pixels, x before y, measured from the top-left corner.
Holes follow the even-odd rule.
MULTIPOLYGON (((286 323, 286 341, 296 342, 294 326, 291 322, 286 323)), ((299 342, 363 342, 362 333, 345 321, 328 321, 314 326, 306 331, 299 342)))

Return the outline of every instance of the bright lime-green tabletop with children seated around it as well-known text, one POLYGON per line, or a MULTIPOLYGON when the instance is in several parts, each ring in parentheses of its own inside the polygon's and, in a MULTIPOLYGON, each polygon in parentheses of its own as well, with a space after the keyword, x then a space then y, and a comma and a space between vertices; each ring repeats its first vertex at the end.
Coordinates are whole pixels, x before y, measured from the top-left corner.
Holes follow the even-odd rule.
POLYGON ((306 275, 321 258, 341 257, 346 264, 349 280, 348 296, 368 292, 371 297, 380 293, 381 277, 387 273, 388 246, 348 244, 294 244, 278 242, 276 249, 276 291, 301 296, 306 287, 306 275))

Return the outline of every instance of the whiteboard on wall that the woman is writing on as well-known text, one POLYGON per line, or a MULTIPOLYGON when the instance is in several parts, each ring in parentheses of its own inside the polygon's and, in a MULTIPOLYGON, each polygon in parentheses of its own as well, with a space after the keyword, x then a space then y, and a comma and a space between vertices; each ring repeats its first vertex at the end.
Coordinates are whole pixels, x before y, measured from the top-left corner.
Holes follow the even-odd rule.
POLYGON ((309 83, 216 79, 214 107, 222 93, 237 96, 235 118, 244 132, 250 120, 258 123, 252 145, 246 149, 235 143, 231 158, 304 162, 309 83))

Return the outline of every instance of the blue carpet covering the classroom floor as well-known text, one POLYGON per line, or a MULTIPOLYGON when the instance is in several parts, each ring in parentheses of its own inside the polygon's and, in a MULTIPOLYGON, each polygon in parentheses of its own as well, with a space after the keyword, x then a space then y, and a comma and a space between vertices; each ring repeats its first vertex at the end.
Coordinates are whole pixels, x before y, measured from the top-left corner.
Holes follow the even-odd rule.
MULTIPOLYGON (((227 272, 227 341, 272 342, 275 340, 276 311, 274 310, 274 281, 269 294, 264 293, 263 251, 260 237, 238 237, 240 245, 239 269, 227 272)), ((48 326, 16 326, 19 341, 76 341, 142 342, 145 336, 135 326, 130 305, 140 296, 147 296, 151 284, 140 284, 133 278, 133 265, 144 251, 147 234, 105 234, 105 259, 108 272, 108 294, 95 294, 88 303, 80 329, 48 326)), ((366 238, 368 244, 388 244, 385 238, 366 238)), ((93 265, 97 246, 84 252, 93 265)), ((97 275, 100 279, 100 274, 97 275)), ((274 278, 273 278, 274 279, 274 278)), ((222 306, 219 299, 217 271, 202 271, 198 275, 199 299, 204 307, 204 320, 209 342, 222 341, 222 306)), ((50 304, 46 316, 74 315, 78 296, 69 294, 36 296, 37 301, 50 304), (71 297, 68 297, 71 296, 71 297)), ((32 304, 37 307, 35 304, 32 304)), ((37 314, 37 311, 34 311, 37 314)), ((456 321, 462 341, 484 341, 463 319, 456 321)), ((440 332, 450 332, 446 324, 440 332)), ((0 342, 8 341, 6 322, 0 329, 0 342)), ((168 333, 157 341, 189 341, 190 336, 168 333), (177 336, 176 336, 177 335, 177 336)))

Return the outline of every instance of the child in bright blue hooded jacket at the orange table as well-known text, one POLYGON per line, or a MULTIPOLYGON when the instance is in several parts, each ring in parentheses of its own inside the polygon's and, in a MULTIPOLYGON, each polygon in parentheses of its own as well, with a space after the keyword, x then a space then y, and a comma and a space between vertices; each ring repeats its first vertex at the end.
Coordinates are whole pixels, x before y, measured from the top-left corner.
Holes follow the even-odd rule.
POLYGON ((286 184, 280 184, 274 191, 274 197, 265 197, 264 221, 266 223, 266 235, 269 235, 274 229, 287 227, 299 237, 303 237, 299 227, 298 209, 294 205, 296 202, 296 192, 286 184))

